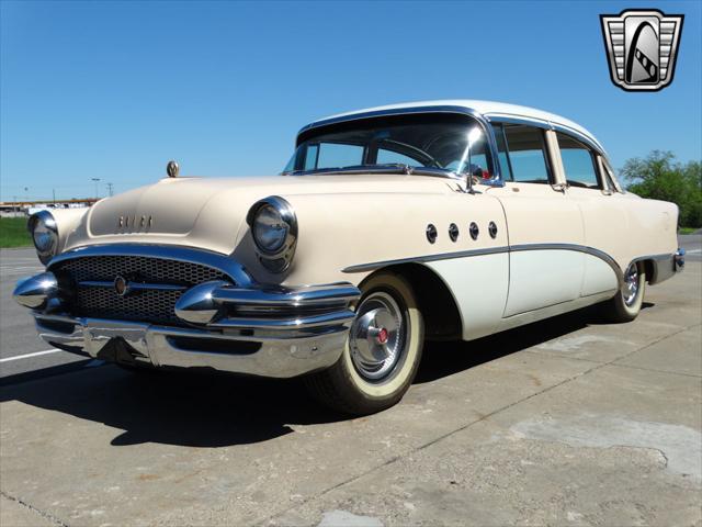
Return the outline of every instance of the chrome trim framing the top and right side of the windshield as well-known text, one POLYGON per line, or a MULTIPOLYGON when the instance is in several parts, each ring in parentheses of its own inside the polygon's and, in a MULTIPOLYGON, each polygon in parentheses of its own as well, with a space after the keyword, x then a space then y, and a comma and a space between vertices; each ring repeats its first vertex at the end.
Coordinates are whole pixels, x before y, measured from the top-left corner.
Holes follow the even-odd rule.
POLYGON ((394 108, 394 109, 387 109, 387 110, 375 110, 372 112, 353 113, 350 115, 341 115, 338 117, 315 121, 313 123, 309 123, 306 126, 303 126, 299 130, 299 132, 297 132, 297 136, 295 138, 295 148, 297 148, 301 145, 303 134, 306 134, 307 132, 314 128, 330 126, 333 124, 346 123, 350 121, 361 121, 364 119, 384 117, 384 116, 392 116, 392 115, 412 115, 418 113, 456 113, 461 115, 468 115, 475 119, 478 122, 478 124, 483 127, 483 132, 485 133, 485 136, 488 139, 488 144, 490 147, 490 159, 492 161, 492 169, 495 172, 495 177, 488 180, 488 181, 492 181, 492 183, 485 183, 485 184, 492 184, 495 187, 503 186, 499 158, 497 155, 497 152, 498 152, 497 142, 495 141, 495 134, 492 133, 492 127, 489 125, 488 120, 485 119, 485 116, 480 112, 466 106, 442 105, 442 106, 394 108))

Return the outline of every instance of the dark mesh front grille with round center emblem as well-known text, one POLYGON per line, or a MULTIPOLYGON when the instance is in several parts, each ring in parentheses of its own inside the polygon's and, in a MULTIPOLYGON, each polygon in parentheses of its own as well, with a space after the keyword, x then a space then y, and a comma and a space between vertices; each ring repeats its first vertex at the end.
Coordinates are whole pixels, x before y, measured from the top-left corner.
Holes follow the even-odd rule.
POLYGON ((75 287, 76 295, 71 304, 71 314, 75 316, 169 325, 183 324, 176 316, 174 307, 185 289, 210 280, 230 281, 218 269, 201 264, 143 256, 75 258, 61 262, 55 272, 68 278, 75 287), (121 296, 112 287, 117 277, 129 282, 180 285, 183 289, 146 289, 121 296))

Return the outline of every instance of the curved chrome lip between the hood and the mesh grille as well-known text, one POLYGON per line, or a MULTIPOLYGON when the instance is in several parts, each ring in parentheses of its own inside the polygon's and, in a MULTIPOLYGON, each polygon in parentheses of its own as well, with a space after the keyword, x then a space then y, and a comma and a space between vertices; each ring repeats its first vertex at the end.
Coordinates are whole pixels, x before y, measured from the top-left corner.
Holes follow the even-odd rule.
POLYGON ((145 258, 159 258, 163 260, 178 260, 188 264, 197 264, 217 269, 227 274, 237 285, 247 287, 253 283, 251 277, 237 260, 210 250, 194 249, 178 245, 141 245, 141 244, 109 244, 89 245, 63 253, 49 261, 47 270, 54 269, 59 264, 83 257, 100 256, 135 256, 145 258))

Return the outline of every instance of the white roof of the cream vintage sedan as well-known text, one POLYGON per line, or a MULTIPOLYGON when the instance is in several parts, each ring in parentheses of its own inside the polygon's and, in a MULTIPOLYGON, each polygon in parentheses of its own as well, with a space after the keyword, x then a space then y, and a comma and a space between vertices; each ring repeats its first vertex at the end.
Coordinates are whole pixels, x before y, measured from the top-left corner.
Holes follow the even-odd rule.
POLYGON ((417 101, 417 102, 405 102, 401 104, 388 104, 385 106, 366 108, 364 110, 356 110, 353 112, 330 115, 328 117, 320 119, 319 121, 315 121, 315 123, 312 123, 312 124, 314 125, 320 121, 335 120, 340 117, 350 117, 352 115, 369 113, 369 112, 383 112, 388 110, 401 110, 401 109, 422 108, 422 106, 429 106, 429 108, 460 106, 460 108, 474 110, 488 119, 501 116, 501 117, 514 117, 514 119, 525 117, 525 119, 535 120, 535 121, 543 121, 546 123, 565 126, 567 128, 571 128, 576 132, 579 132, 580 134, 582 134, 584 136, 592 141, 596 145, 598 145, 600 149, 604 150, 604 148, 602 148, 602 145, 600 145, 600 143, 595 137, 595 135, 592 135, 587 128, 570 121, 569 119, 562 117, 561 115, 556 115, 555 113, 544 112, 543 110, 537 110, 535 108, 520 106, 518 104, 508 104, 506 102, 478 101, 478 100, 472 100, 472 99, 417 101))

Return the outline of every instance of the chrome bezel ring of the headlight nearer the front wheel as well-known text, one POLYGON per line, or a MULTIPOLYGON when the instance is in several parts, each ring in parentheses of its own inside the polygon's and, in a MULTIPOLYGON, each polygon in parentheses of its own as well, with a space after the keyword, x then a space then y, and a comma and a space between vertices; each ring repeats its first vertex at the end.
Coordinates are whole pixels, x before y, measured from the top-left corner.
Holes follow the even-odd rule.
POLYGON ((292 205, 280 195, 270 195, 257 201, 251 209, 249 209, 246 221, 249 225, 251 238, 253 239, 257 256, 261 265, 271 272, 284 272, 293 261, 295 247, 297 245, 297 216, 292 205), (273 250, 263 246, 261 242, 257 239, 254 232, 256 220, 267 208, 272 209, 286 227, 285 239, 280 247, 273 250))

